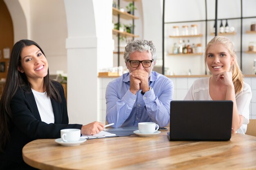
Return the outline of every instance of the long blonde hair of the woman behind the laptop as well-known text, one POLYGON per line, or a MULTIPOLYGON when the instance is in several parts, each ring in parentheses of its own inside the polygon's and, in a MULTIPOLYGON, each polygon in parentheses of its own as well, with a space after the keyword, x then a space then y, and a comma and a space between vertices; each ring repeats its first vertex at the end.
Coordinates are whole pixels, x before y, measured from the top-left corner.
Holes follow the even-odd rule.
MULTIPOLYGON (((206 64, 206 59, 207 59, 207 53, 208 49, 211 45, 221 43, 223 44, 229 51, 231 57, 234 57, 234 64, 230 66, 230 71, 232 72, 232 81, 234 83, 235 87, 235 93, 237 94, 238 92, 242 91, 243 89, 243 73, 240 70, 240 67, 238 66, 237 60, 236 60, 236 51, 234 49, 234 44, 229 40, 227 37, 222 37, 222 36, 216 36, 211 41, 208 42, 206 48, 205 48, 205 53, 204 53, 204 62, 206 64)), ((207 68, 207 67, 205 67, 207 68)))

